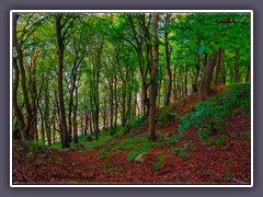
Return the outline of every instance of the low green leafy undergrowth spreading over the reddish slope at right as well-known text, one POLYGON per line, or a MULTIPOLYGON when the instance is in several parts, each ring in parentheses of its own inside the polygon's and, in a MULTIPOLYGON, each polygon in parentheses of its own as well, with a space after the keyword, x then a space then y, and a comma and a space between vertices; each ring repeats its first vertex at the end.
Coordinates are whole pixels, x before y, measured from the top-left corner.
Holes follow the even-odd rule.
POLYGON ((198 128, 199 139, 204 142, 211 132, 222 131, 227 124, 226 115, 235 115, 235 109, 240 107, 244 114, 249 113, 250 84, 233 84, 229 88, 227 93, 220 93, 218 96, 209 97, 206 102, 201 102, 194 107, 194 112, 182 116, 179 132, 182 134, 194 126, 198 128))

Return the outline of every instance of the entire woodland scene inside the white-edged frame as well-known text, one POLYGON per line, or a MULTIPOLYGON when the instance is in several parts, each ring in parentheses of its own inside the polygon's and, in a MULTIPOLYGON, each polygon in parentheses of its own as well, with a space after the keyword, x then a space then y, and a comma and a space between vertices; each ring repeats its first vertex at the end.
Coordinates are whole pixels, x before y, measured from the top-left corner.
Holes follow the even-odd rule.
POLYGON ((11 18, 12 183, 251 183, 251 13, 11 18))

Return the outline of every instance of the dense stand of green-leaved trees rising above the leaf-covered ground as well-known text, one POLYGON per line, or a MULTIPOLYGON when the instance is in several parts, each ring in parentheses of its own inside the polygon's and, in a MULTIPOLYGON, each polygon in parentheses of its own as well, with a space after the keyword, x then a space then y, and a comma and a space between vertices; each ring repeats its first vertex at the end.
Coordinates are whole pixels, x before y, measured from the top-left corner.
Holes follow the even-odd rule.
MULTIPOLYGON (((13 13, 13 139, 78 143, 250 82, 250 13, 13 13)), ((46 143, 45 142, 45 143, 46 143)))

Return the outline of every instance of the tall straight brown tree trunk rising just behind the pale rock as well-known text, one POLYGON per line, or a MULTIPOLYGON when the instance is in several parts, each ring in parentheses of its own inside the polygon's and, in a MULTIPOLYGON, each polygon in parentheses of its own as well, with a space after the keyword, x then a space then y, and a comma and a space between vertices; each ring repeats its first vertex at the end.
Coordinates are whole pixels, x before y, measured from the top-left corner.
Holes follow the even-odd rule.
POLYGON ((156 115, 156 99, 157 99, 157 67, 158 67, 158 35, 157 35, 157 28, 158 28, 158 18, 159 14, 155 13, 152 19, 152 37, 153 37, 153 61, 151 67, 151 76, 150 76, 150 114, 149 114, 149 139, 156 140, 156 129, 155 129, 155 115, 156 115))

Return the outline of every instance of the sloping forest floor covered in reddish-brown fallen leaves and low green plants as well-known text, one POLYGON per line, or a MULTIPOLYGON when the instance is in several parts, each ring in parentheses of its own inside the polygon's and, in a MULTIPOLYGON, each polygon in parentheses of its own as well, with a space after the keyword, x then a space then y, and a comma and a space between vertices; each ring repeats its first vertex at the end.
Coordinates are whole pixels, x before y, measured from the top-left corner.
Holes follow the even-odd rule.
MULTIPOLYGON (((192 94, 157 116, 168 108, 184 115, 196 104, 197 94, 192 94)), ((114 137, 104 135, 100 142, 83 138, 65 150, 14 142, 13 184, 250 184, 250 118, 237 108, 206 144, 194 127, 179 137, 180 120, 172 116, 165 125, 157 123, 155 142, 147 140, 147 121, 114 137), (145 161, 136 162, 141 152, 147 152, 145 161)))

